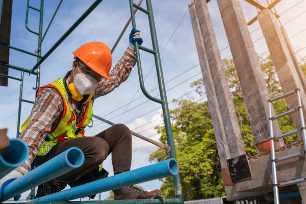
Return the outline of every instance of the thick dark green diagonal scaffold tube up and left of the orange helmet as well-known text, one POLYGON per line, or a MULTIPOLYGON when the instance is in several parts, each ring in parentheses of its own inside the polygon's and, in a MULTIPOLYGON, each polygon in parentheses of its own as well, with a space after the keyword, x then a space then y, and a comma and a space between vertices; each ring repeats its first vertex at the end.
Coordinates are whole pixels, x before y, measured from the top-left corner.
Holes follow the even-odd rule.
MULTIPOLYGON (((29 0, 28 0, 29 1, 29 0)), ((48 52, 43 56, 43 58, 41 60, 39 60, 37 62, 36 65, 34 65, 34 67, 31 69, 31 71, 34 71, 35 69, 38 68, 39 65, 41 65, 41 63, 43 63, 43 61, 45 61, 45 59, 47 57, 49 57, 50 54, 53 53, 53 51, 68 37, 68 35, 70 33, 72 33, 72 31, 78 27, 78 25, 102 2, 103 0, 96 0, 84 13, 83 15, 77 20, 75 21, 75 23, 73 23, 73 25, 68 29, 68 31, 66 31, 66 33, 48 50, 48 52)))

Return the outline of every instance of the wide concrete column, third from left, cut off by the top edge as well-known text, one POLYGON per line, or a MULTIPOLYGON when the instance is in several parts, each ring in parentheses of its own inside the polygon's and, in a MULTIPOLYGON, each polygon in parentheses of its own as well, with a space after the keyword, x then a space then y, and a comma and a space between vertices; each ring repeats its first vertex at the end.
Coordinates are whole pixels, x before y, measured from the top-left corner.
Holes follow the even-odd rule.
MULTIPOLYGON (((270 95, 239 0, 217 0, 217 2, 230 43, 254 140, 260 142, 270 137, 267 102, 270 95)), ((272 112, 274 114, 274 110, 272 112)), ((273 122, 273 131, 274 136, 281 134, 276 120, 273 122)), ((278 146, 284 146, 283 139, 279 140, 278 146)))

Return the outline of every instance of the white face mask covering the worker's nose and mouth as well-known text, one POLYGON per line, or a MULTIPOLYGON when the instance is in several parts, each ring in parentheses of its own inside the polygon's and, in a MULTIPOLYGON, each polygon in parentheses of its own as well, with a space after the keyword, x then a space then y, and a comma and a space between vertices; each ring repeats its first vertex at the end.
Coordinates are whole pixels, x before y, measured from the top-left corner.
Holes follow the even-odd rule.
POLYGON ((90 94, 99 85, 94 78, 84 73, 75 74, 73 84, 82 95, 90 94))

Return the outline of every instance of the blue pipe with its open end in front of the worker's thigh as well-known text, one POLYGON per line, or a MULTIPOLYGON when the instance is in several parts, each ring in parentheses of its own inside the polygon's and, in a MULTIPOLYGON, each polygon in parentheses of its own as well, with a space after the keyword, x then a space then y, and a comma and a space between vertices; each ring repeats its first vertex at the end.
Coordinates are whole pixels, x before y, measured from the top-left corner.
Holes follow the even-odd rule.
POLYGON ((43 163, 19 179, 9 183, 3 191, 0 202, 8 200, 31 188, 44 184, 84 163, 84 153, 78 147, 70 147, 58 156, 43 163))

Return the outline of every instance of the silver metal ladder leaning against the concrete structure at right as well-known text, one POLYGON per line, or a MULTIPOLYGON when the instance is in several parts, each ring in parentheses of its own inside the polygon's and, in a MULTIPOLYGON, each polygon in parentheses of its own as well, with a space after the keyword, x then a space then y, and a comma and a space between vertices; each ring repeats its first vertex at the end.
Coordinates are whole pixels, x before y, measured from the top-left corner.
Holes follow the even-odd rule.
POLYGON ((290 91, 288 93, 285 93, 283 95, 280 95, 280 96, 277 96, 275 98, 269 99, 268 100, 268 104, 269 104, 269 125, 270 125, 270 143, 271 143, 271 161, 272 161, 272 174, 273 174, 274 203, 275 204, 279 204, 278 187, 289 186, 289 185, 292 185, 292 184, 298 184, 298 183, 301 183, 301 182, 305 182, 306 177, 302 178, 302 179, 296 179, 296 180, 293 180, 293 181, 277 183, 276 162, 292 159, 292 158, 295 158, 295 157, 299 157, 301 155, 305 155, 305 153, 306 153, 306 143, 305 143, 305 141, 306 141, 306 130, 305 130, 305 122, 304 122, 303 110, 302 110, 302 105, 301 105, 300 92, 299 92, 298 88, 293 90, 293 91, 290 91), (295 92, 297 94, 298 107, 272 117, 271 104, 274 101, 282 99, 282 98, 287 97, 289 95, 292 95, 295 92), (289 115, 291 113, 297 112, 297 111, 299 111, 300 120, 301 120, 301 127, 299 129, 290 131, 288 133, 284 133, 282 135, 278 135, 276 137, 273 137, 273 124, 272 124, 272 121, 276 120, 278 118, 284 117, 286 115, 289 115), (290 136, 290 135, 293 135, 293 134, 296 134, 299 131, 301 131, 302 135, 303 135, 304 151, 298 152, 298 153, 293 154, 293 155, 288 155, 288 156, 285 156, 285 157, 281 157, 281 158, 275 159, 275 149, 274 149, 274 142, 273 141, 277 140, 277 139, 281 139, 281 138, 287 137, 287 136, 290 136))

